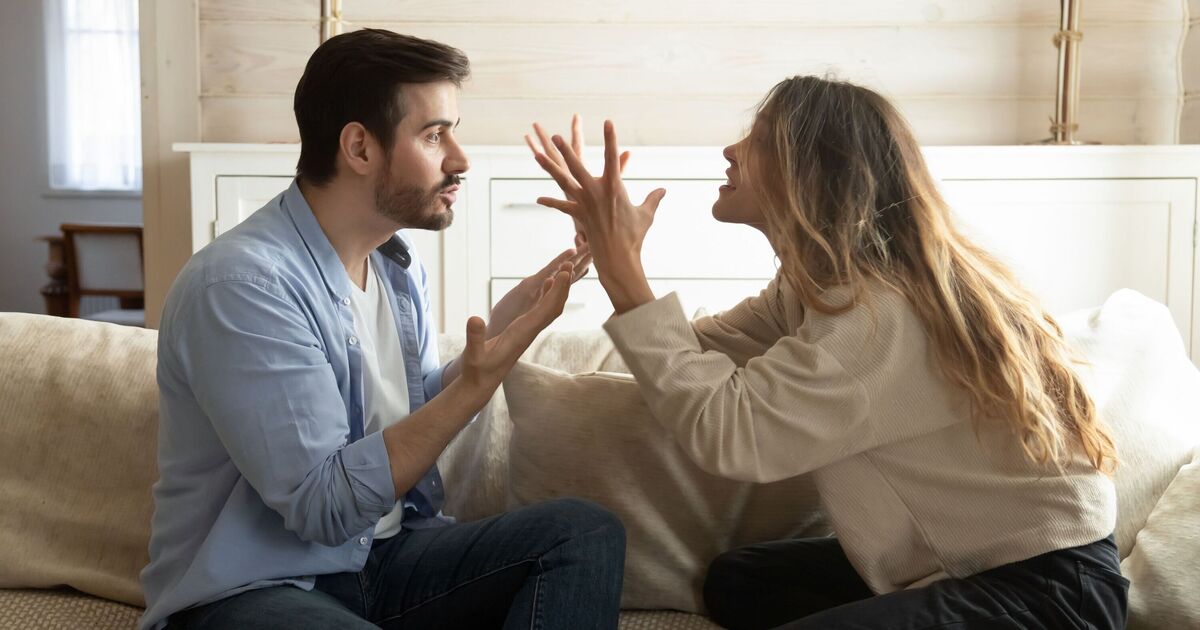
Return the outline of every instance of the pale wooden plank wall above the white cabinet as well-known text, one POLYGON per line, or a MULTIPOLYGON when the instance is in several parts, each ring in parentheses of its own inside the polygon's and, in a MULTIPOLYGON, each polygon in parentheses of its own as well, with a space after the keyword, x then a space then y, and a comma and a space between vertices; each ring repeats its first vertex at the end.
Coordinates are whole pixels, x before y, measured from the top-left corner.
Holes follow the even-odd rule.
MULTIPOLYGON (((1081 138, 1180 140, 1196 107, 1181 68, 1196 56, 1183 50, 1188 1, 1084 2, 1081 138)), ((203 139, 296 142, 292 92, 318 43, 319 0, 199 11, 203 139)), ((614 119, 630 144, 724 144, 770 85, 799 73, 881 90, 924 144, 1034 142, 1054 112, 1054 0, 343 0, 343 12, 347 30, 467 52, 472 144, 520 144, 530 121, 562 128, 574 112, 614 119)))

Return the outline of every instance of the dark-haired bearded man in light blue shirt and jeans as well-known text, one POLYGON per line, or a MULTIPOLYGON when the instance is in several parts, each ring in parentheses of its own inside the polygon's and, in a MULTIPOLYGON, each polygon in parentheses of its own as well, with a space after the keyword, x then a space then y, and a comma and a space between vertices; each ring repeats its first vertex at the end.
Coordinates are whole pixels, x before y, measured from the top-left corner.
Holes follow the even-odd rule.
POLYGON ((142 628, 616 628, 624 530, 558 500, 452 524, 437 457, 563 308, 563 252, 439 366, 425 270, 468 160, 460 50, 380 30, 320 46, 296 179, 192 257, 158 342, 142 628))

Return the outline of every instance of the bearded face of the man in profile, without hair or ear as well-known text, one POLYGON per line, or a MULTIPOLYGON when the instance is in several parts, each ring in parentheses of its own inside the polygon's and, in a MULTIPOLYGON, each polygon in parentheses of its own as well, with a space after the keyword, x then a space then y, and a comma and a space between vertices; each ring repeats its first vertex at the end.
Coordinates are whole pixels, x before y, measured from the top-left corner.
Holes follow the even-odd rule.
POLYGON ((404 118, 376 180, 376 209, 401 227, 445 229, 454 221, 458 175, 470 167, 454 136, 458 89, 450 82, 401 88, 404 118))

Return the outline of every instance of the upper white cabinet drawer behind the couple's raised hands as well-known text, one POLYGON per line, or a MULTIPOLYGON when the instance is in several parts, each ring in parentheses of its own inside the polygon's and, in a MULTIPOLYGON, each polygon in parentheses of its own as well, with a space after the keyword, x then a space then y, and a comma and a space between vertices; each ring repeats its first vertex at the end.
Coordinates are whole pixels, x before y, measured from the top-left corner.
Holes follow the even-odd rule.
MULTIPOLYGON (((538 205, 562 198, 552 180, 493 179, 491 186, 493 277, 524 277, 574 245, 571 218, 538 205)), ((775 275, 770 245, 758 230, 720 223, 712 215, 724 180, 628 180, 631 199, 666 188, 642 247, 646 274, 661 278, 763 278, 775 275)))

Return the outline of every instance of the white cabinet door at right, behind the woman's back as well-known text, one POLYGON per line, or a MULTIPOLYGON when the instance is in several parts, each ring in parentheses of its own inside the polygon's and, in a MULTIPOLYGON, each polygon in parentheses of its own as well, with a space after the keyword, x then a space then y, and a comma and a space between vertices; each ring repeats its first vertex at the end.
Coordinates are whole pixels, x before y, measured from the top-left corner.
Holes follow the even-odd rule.
POLYGON ((1193 316, 1195 180, 946 181, 964 232, 1055 313, 1118 288, 1193 316), (1174 272, 1172 272, 1174 271, 1174 272))

